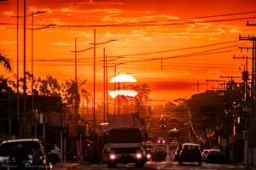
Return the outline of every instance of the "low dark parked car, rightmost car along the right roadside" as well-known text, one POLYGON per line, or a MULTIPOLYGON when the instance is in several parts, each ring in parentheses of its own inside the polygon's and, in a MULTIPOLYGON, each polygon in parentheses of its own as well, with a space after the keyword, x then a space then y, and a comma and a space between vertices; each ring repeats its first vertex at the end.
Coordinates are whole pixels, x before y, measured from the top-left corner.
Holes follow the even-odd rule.
POLYGON ((223 150, 212 149, 209 150, 207 156, 207 163, 224 163, 224 152, 223 150))

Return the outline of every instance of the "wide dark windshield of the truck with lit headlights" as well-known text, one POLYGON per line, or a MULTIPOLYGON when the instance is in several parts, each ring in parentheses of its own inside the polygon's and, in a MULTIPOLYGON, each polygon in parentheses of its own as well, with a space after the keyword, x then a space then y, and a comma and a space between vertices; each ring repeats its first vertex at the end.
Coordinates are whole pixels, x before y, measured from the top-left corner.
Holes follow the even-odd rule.
POLYGON ((137 128, 119 128, 112 129, 109 132, 110 143, 137 143, 142 141, 142 133, 137 128))

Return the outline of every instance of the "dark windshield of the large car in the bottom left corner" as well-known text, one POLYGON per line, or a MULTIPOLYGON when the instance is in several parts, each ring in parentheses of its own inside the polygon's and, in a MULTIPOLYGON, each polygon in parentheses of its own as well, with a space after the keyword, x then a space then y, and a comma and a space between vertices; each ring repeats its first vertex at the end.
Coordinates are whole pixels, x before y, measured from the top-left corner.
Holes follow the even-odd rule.
POLYGON ((31 154, 32 148, 39 149, 40 145, 37 142, 12 142, 4 143, 0 145, 0 156, 10 156, 13 150, 15 150, 17 144, 22 144, 22 148, 26 150, 28 154, 31 154))

